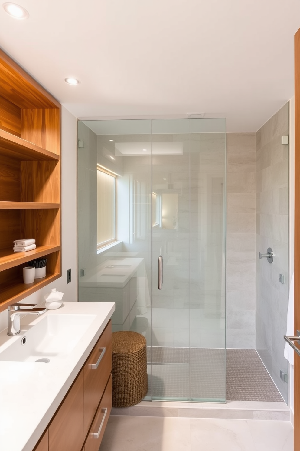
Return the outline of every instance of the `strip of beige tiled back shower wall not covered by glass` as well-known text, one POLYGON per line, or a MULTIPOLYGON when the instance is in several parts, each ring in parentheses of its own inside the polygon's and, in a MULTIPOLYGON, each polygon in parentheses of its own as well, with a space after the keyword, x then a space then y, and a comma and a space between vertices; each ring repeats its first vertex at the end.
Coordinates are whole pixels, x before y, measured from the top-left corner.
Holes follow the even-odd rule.
POLYGON ((255 348, 255 175, 255 133, 227 133, 228 348, 255 348))

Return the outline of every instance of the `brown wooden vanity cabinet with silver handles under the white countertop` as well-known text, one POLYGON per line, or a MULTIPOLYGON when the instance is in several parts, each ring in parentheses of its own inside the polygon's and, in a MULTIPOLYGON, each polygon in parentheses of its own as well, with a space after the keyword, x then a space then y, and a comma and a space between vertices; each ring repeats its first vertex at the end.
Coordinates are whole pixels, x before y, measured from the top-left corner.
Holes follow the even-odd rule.
POLYGON ((112 410, 111 371, 110 320, 49 423, 45 432, 49 433, 47 446, 45 447, 46 440, 43 442, 43 436, 34 451, 99 450, 112 410))

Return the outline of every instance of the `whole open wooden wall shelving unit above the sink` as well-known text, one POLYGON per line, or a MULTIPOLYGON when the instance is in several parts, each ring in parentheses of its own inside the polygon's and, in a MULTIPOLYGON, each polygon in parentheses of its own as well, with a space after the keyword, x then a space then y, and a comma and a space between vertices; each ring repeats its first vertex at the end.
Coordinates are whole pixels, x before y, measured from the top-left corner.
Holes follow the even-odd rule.
POLYGON ((61 276, 61 105, 0 51, 0 311, 61 276), (36 249, 13 252, 15 239, 36 249), (46 257, 46 276, 22 268, 46 257))

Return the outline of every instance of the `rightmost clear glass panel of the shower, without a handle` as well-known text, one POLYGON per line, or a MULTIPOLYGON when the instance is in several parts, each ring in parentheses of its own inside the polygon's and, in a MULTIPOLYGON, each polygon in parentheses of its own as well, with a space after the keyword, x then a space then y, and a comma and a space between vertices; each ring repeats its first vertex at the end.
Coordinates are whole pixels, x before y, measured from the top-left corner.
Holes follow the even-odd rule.
POLYGON ((225 119, 190 127, 190 397, 225 401, 225 119))

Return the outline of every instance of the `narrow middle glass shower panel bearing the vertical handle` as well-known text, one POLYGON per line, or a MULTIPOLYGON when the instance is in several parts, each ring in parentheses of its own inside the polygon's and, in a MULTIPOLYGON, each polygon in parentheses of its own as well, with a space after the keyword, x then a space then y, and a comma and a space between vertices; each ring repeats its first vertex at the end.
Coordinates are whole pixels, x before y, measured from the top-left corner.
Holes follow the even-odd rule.
POLYGON ((190 397, 189 146, 188 119, 152 120, 152 399, 157 400, 190 397))

